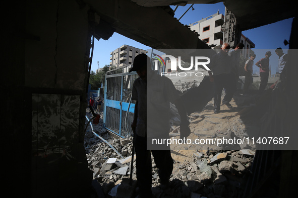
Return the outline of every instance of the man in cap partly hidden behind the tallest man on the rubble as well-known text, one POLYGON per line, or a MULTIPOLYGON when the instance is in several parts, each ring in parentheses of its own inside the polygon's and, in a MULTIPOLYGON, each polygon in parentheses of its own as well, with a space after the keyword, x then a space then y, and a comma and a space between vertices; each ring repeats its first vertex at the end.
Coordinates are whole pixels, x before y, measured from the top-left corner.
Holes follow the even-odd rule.
POLYGON ((243 48, 244 48, 244 44, 243 43, 238 43, 236 45, 235 49, 230 50, 228 52, 228 55, 231 57, 231 64, 232 64, 231 73, 232 73, 233 78, 234 78, 235 91, 237 90, 237 82, 238 82, 238 79, 239 79, 238 67, 239 67, 240 51, 243 48))

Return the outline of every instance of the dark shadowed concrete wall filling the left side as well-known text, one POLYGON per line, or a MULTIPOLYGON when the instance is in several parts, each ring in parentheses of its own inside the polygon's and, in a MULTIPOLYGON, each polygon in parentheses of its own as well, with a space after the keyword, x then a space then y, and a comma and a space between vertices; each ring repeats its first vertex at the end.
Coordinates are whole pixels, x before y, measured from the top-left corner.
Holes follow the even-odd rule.
POLYGON ((7 8, 14 11, 4 12, 2 132, 8 135, 5 148, 11 148, 6 159, 14 156, 19 163, 10 163, 5 172, 8 185, 16 178, 21 183, 12 196, 86 192, 92 180, 83 146, 89 8, 71 0, 32 0, 7 8))

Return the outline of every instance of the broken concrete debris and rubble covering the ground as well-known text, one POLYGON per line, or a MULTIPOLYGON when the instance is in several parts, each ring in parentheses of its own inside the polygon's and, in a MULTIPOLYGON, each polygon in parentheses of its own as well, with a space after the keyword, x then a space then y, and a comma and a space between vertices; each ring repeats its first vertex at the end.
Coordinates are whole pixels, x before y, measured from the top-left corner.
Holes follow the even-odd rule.
MULTIPOLYGON (((234 117, 229 112, 226 115, 206 114, 208 111, 213 111, 209 106, 210 104, 206 106, 205 112, 189 115, 191 135, 197 134, 200 138, 247 136, 245 125, 239 117, 234 117)), ((173 125, 170 136, 180 136, 178 122, 173 122, 173 125)), ((131 161, 133 139, 110 136, 103 130, 102 120, 97 126, 93 126, 93 131, 100 134, 124 157, 122 159, 117 156, 113 149, 92 134, 91 128, 87 128, 84 146, 88 165, 93 170, 94 180, 101 185, 105 197, 137 197, 136 156, 134 161, 131 161), (131 170, 131 163, 133 163, 133 170, 131 170), (132 184, 129 182, 131 171, 133 171, 132 184)), ((160 186, 158 169, 152 157, 152 192, 159 198, 243 197, 245 189, 241 183, 249 174, 255 155, 254 149, 255 147, 250 143, 237 150, 218 150, 209 145, 196 148, 187 146, 173 148, 171 155, 174 169, 166 188, 160 186)))

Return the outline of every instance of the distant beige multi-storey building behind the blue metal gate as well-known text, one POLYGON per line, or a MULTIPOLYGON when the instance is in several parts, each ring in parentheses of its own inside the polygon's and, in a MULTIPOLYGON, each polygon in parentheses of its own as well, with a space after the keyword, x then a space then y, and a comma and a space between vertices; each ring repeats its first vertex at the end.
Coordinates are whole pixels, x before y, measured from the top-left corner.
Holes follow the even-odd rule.
POLYGON ((147 54, 148 51, 138 49, 133 46, 123 45, 110 53, 110 65, 116 68, 133 64, 134 58, 138 54, 147 54))

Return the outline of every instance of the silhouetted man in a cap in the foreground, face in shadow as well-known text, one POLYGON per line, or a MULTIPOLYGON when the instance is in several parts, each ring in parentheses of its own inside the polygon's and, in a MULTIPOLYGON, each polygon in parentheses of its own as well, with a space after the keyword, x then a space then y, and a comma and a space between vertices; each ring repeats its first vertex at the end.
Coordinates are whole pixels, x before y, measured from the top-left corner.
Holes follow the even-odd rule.
MULTIPOLYGON (((160 150, 147 150, 148 139, 169 138, 169 103, 173 103, 181 116, 181 138, 190 134, 186 111, 171 80, 154 73, 146 54, 135 57, 133 68, 139 78, 134 81, 132 100, 136 101, 132 130, 136 151, 137 180, 140 197, 152 197, 151 152, 158 168, 161 187, 169 183, 173 160, 166 145, 160 150)), ((150 142, 150 141, 149 141, 150 142)))

